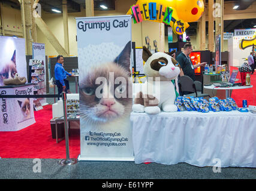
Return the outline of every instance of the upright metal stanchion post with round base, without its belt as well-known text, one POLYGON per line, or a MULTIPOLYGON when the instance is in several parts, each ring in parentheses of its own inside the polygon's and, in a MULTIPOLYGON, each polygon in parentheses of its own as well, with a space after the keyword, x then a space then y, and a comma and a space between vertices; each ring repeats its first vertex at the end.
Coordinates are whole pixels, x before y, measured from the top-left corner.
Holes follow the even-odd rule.
POLYGON ((65 129, 65 143, 66 143, 66 159, 59 161, 60 165, 73 165, 77 163, 77 159, 70 158, 70 146, 68 143, 68 116, 67 116, 67 93, 62 92, 63 101, 63 115, 64 115, 64 129, 65 129))

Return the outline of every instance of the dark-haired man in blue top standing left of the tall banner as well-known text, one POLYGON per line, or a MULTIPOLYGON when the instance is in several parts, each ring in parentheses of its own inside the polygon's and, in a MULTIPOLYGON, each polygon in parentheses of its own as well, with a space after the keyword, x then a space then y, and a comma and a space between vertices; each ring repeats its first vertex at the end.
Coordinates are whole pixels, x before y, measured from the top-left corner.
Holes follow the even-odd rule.
POLYGON ((58 94, 61 94, 62 91, 65 91, 66 93, 70 93, 70 83, 67 81, 67 75, 73 76, 71 73, 68 73, 64 67, 64 58, 62 55, 59 55, 57 57, 57 63, 55 64, 55 79, 56 79, 56 85, 58 87, 58 94))

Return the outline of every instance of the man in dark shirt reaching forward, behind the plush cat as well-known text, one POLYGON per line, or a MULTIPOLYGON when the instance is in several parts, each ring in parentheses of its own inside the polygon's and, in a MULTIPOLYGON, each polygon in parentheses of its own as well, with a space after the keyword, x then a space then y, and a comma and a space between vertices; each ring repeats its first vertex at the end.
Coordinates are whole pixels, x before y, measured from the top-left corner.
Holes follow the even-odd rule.
POLYGON ((182 53, 177 56, 176 60, 180 64, 180 76, 186 75, 195 81, 195 69, 197 67, 204 66, 206 62, 193 65, 189 57, 189 54, 192 53, 192 51, 192 45, 190 43, 186 43, 183 47, 182 53))

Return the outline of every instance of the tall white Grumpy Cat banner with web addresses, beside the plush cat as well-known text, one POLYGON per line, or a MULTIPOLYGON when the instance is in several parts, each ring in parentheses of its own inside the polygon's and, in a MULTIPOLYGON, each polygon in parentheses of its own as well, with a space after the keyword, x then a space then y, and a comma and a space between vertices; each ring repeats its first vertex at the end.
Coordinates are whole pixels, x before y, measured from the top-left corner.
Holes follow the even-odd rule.
POLYGON ((129 114, 131 16, 76 18, 79 161, 134 161, 129 114))

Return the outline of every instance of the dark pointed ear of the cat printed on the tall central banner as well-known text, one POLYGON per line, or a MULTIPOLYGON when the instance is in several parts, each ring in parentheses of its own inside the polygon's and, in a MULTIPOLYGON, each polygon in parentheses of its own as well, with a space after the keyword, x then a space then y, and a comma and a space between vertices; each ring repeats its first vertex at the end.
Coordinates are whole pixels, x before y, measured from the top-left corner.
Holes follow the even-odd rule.
POLYGON ((131 58, 131 41, 125 45, 124 50, 115 58, 114 62, 124 67, 127 71, 131 72, 130 69, 130 58, 131 58))

